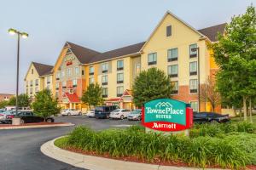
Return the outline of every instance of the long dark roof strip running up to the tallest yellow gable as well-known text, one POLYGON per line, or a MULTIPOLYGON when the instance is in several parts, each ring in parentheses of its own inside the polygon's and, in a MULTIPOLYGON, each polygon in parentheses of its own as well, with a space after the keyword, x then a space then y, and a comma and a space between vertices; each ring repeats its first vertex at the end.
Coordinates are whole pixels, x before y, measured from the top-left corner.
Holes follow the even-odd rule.
POLYGON ((92 57, 89 63, 94 63, 96 61, 112 59, 119 56, 124 56, 128 54, 136 54, 138 53, 141 48, 143 48, 145 42, 136 43, 133 45, 129 45, 123 48, 113 49, 111 51, 104 52, 102 54, 97 54, 96 56, 92 57))

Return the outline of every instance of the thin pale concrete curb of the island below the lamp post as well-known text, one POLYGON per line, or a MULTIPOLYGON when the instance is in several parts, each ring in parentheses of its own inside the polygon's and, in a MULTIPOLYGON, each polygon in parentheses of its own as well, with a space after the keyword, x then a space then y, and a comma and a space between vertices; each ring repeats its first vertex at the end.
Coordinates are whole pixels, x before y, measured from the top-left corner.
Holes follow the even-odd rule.
POLYGON ((27 126, 10 126, 10 127, 0 127, 0 130, 7 129, 21 129, 21 128, 41 128, 41 127, 71 127, 74 126, 73 123, 63 123, 63 124, 53 124, 53 125, 27 125, 27 126))

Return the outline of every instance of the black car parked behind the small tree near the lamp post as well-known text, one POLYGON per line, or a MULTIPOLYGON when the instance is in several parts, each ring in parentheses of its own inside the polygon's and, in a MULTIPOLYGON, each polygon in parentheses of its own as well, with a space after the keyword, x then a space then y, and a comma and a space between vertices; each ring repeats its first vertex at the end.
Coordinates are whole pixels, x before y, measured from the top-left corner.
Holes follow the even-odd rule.
MULTIPOLYGON (((32 111, 22 111, 18 113, 20 117, 20 123, 31 123, 31 122, 44 122, 44 117, 41 116, 35 116, 32 111)), ((55 122, 54 118, 47 117, 45 119, 45 122, 55 122)))

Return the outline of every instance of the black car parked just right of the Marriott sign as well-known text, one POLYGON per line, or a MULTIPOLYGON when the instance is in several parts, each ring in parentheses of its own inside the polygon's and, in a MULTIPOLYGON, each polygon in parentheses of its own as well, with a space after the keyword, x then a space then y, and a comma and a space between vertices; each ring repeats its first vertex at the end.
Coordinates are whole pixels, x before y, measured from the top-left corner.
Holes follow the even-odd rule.
POLYGON ((229 122, 229 115, 221 115, 214 112, 195 112, 193 122, 229 122))

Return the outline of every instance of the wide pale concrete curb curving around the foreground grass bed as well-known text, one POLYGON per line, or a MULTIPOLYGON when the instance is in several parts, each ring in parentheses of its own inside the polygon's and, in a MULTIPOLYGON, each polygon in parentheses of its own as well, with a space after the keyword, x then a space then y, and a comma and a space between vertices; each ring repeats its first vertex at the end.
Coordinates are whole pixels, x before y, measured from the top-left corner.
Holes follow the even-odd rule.
MULTIPOLYGON (((63 138, 59 137, 56 139, 63 138)), ((90 170, 194 170, 202 169, 195 167, 172 167, 161 166, 147 163, 137 163, 132 161, 119 161, 98 156, 86 156, 79 153, 74 153, 68 150, 62 150, 55 146, 55 140, 50 140, 41 146, 41 151, 44 155, 55 160, 65 162, 73 167, 81 167, 90 170)), ((208 169, 208 168, 207 168, 208 169)), ((210 168, 209 168, 210 169, 210 168)))

